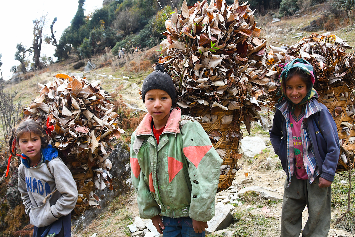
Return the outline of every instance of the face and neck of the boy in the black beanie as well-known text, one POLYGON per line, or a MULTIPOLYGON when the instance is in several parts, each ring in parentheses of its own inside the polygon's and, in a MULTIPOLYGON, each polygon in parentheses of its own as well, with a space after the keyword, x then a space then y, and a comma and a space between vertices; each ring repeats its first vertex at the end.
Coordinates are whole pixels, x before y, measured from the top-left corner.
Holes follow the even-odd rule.
POLYGON ((166 125, 173 105, 168 93, 160 89, 148 90, 144 95, 148 113, 153 117, 154 127, 160 129, 166 125))

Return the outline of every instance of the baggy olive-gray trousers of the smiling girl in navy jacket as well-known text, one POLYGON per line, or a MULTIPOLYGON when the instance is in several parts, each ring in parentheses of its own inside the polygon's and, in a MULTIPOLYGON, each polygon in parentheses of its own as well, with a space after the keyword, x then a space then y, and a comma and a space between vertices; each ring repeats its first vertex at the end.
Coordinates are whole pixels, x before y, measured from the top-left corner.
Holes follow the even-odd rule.
POLYGON ((281 212, 281 237, 299 237, 302 230, 302 211, 307 205, 308 220, 302 237, 327 237, 331 221, 332 189, 318 187, 319 177, 308 180, 291 177, 284 185, 281 212))

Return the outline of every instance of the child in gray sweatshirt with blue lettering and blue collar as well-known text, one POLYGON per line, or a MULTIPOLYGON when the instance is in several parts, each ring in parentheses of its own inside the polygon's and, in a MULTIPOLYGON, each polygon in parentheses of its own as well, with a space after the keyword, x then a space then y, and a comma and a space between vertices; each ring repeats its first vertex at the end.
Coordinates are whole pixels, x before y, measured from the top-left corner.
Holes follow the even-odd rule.
POLYGON ((16 155, 16 146, 22 152, 17 186, 29 222, 34 225, 33 237, 70 237, 70 214, 78 191, 58 150, 48 145, 46 132, 33 120, 25 120, 12 130, 10 153, 16 155))

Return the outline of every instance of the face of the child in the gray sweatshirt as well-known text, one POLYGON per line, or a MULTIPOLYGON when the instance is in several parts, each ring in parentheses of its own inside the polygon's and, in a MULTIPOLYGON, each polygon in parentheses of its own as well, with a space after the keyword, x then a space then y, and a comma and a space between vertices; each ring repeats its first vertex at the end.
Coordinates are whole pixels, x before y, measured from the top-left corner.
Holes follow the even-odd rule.
POLYGON ((20 149, 23 154, 28 156, 31 161, 39 161, 41 159, 41 139, 33 132, 23 133, 18 139, 20 149))

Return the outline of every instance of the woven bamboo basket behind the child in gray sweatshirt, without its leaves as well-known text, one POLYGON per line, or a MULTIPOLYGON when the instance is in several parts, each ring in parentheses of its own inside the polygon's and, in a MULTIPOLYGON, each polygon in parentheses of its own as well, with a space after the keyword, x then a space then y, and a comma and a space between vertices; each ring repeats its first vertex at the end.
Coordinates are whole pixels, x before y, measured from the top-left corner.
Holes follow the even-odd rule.
MULTIPOLYGON (((65 162, 65 164, 73 164, 73 162, 81 162, 81 163, 87 163, 87 159, 74 159, 74 158, 62 158, 62 160, 65 162)), ((73 178, 76 182, 79 197, 77 200, 77 203, 75 205, 74 210, 72 211, 71 215, 72 216, 80 216, 84 214, 84 212, 91 208, 88 200, 83 202, 84 198, 89 197, 89 193, 95 191, 95 184, 92 182, 89 185, 84 185, 84 181, 91 179, 92 181, 94 180, 94 172, 92 171, 91 167, 88 166, 87 170, 80 170, 80 171, 75 171, 75 169, 71 170, 73 178)))

